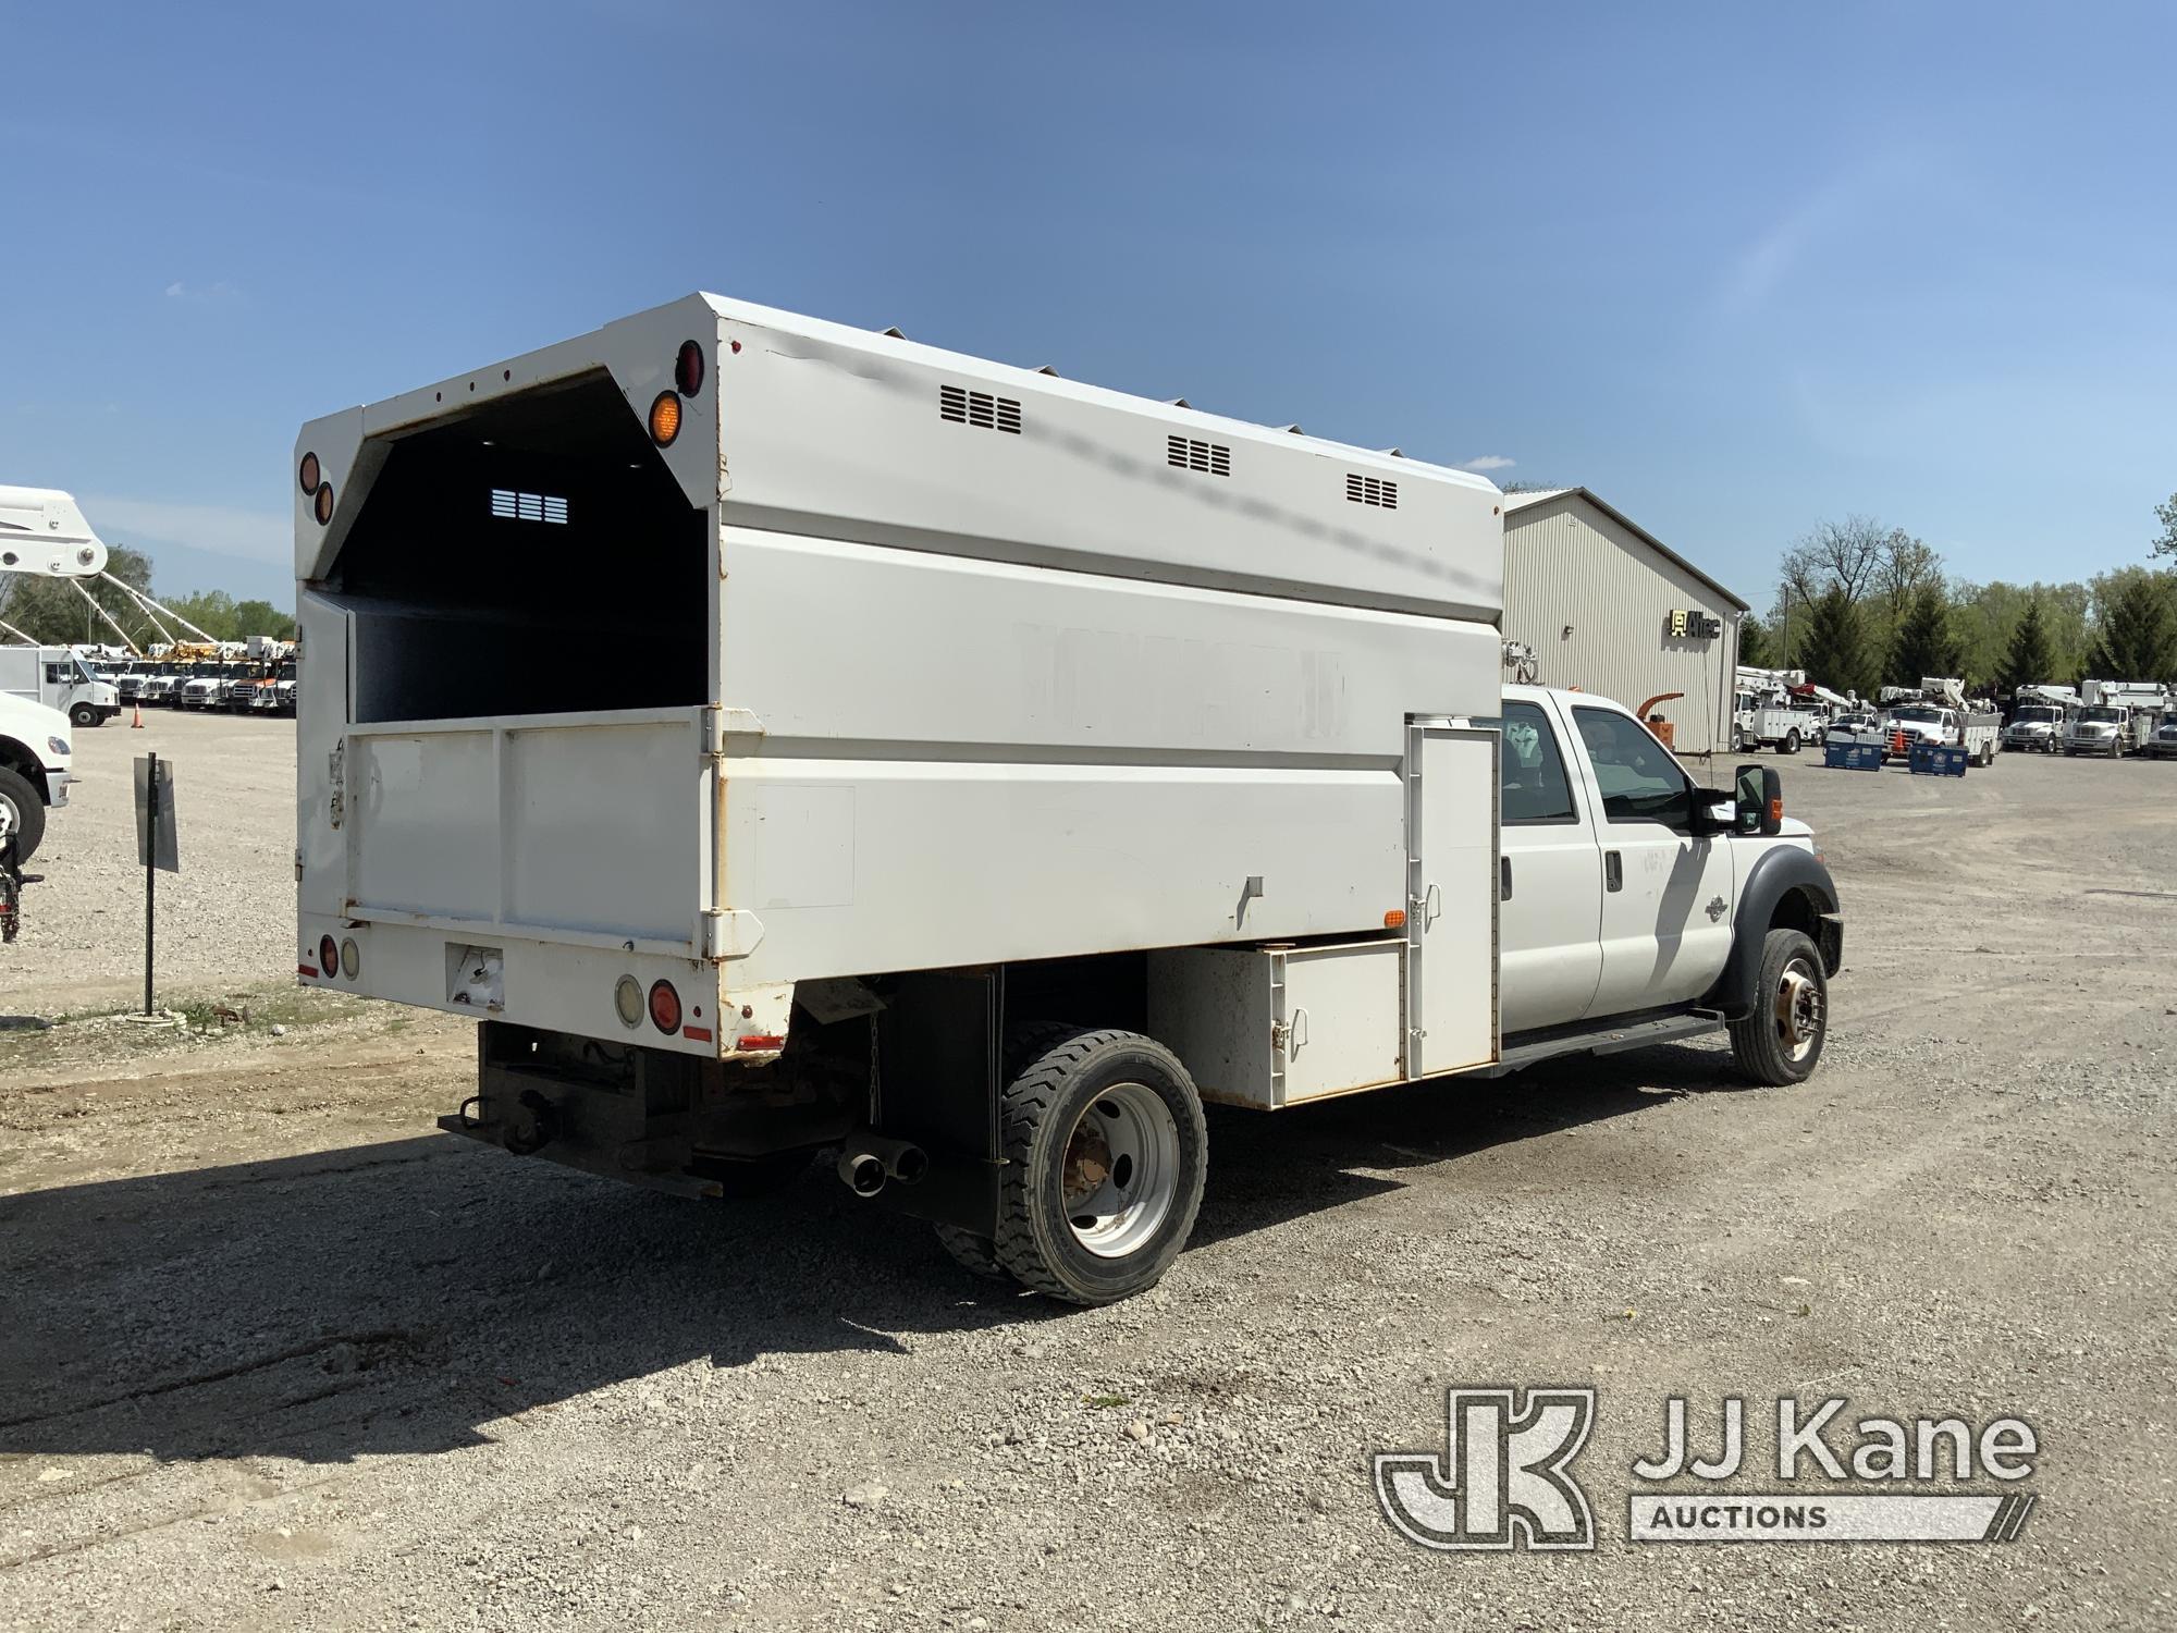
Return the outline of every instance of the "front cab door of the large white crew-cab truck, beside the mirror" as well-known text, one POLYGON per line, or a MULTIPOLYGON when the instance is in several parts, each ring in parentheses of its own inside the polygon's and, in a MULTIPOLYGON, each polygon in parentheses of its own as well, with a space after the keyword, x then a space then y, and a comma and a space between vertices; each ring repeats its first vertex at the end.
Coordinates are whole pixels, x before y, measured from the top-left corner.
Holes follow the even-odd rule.
POLYGON ((1685 1004, 1731 956, 1729 836, 1694 836, 1678 758, 1615 708, 1572 705, 1602 847, 1602 975, 1589 1019, 1685 1004))

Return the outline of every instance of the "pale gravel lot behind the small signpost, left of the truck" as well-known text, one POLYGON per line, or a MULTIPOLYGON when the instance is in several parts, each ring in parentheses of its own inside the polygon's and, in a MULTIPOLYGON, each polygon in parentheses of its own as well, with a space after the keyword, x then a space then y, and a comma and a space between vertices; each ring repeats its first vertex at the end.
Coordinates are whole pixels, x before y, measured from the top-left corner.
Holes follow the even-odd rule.
POLYGON ((294 721, 144 710, 70 732, 67 808, 48 812, 22 938, 0 951, 7 1006, 59 1015, 144 999, 144 869, 133 762, 174 764, 181 873, 159 875, 159 995, 218 995, 292 975, 294 721))

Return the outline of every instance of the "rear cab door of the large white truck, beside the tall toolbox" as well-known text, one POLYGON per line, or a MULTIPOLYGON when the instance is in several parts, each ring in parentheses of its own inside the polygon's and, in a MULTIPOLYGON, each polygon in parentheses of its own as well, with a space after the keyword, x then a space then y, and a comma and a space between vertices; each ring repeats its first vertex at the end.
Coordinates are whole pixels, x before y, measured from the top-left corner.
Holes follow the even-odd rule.
POLYGON ((1602 978, 1596 808, 1541 701, 1504 703, 1498 1015, 1506 1034, 1578 1021, 1602 978))

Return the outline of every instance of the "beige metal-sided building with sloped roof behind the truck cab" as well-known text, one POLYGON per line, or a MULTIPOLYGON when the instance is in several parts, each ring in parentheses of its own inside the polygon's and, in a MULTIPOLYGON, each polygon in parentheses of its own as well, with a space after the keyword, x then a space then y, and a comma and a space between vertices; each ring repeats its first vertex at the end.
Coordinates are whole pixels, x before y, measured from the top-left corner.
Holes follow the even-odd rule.
POLYGON ((1746 603, 1587 488, 1504 494, 1504 636, 1543 686, 1578 686, 1672 723, 1678 753, 1731 751, 1746 603))

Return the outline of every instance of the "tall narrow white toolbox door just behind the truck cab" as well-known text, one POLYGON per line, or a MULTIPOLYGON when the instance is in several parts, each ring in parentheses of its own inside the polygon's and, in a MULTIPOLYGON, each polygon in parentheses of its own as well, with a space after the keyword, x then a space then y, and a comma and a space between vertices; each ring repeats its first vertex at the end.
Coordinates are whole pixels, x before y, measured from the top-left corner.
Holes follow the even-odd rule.
POLYGON ((1415 727, 1409 1076, 1496 1060, 1498 738, 1415 727))

